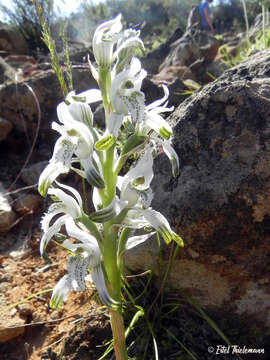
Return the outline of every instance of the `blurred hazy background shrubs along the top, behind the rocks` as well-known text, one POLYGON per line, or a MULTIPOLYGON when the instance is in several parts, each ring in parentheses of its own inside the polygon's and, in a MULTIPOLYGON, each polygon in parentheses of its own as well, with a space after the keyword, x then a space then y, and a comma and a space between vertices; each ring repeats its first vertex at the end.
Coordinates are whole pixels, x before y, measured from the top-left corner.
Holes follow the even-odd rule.
MULTIPOLYGON (((149 50, 168 39, 176 28, 184 30, 192 5, 199 2, 199 0, 104 0, 103 2, 82 0, 76 12, 62 15, 61 8, 69 7, 68 0, 62 0, 61 6, 59 0, 39 0, 54 37, 57 37, 65 27, 69 39, 90 43, 97 24, 121 12, 125 25, 141 29, 141 36, 146 46, 149 45, 149 50)), ((6 21, 20 27, 33 50, 39 48, 46 51, 45 45, 40 40, 41 27, 33 2, 10 0, 9 3, 12 6, 0 5, 0 11, 5 14, 6 21)), ((212 13, 217 34, 245 31, 242 3, 243 0, 214 1, 212 13)), ((245 0, 245 3, 248 20, 252 24, 256 15, 261 12, 261 4, 257 0, 245 0)))

